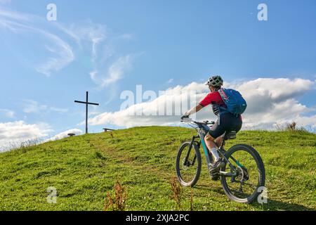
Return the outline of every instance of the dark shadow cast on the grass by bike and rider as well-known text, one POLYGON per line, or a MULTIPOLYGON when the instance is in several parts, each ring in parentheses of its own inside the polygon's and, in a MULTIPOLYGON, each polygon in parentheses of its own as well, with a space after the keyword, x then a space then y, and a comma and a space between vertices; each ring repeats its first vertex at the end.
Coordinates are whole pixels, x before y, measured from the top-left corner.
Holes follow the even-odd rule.
MULTIPOLYGON (((213 191, 216 193, 220 193, 221 195, 225 195, 223 188, 212 188, 205 185, 199 185, 195 187, 199 190, 205 191, 213 191)), ((252 207, 257 208, 258 210, 270 210, 270 211, 315 211, 315 208, 312 207, 305 207, 304 205, 298 205, 294 203, 283 203, 277 200, 268 199, 268 204, 259 204, 259 203, 252 203, 252 207)))

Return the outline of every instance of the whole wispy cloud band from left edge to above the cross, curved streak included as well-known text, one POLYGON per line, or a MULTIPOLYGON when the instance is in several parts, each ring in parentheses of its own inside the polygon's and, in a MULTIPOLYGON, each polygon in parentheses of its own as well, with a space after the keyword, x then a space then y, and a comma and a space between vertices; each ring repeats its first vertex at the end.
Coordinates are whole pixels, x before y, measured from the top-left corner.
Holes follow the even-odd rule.
POLYGON ((0 27, 11 32, 32 32, 46 39, 44 48, 50 56, 46 60, 34 63, 34 69, 46 76, 67 67, 76 58, 74 49, 79 47, 91 56, 90 77, 99 88, 118 82, 131 68, 135 53, 119 53, 115 51, 117 42, 133 39, 133 34, 111 35, 105 25, 92 23, 90 20, 80 25, 62 25, 48 23, 37 15, 0 9, 0 27), (50 31, 48 31, 48 29, 50 31), (53 32, 55 30, 55 32, 53 32), (67 39, 62 39, 66 34, 67 39), (71 41, 70 41, 71 40, 71 41), (73 41, 75 44, 73 44, 73 41), (117 56, 119 55, 119 56, 117 56))

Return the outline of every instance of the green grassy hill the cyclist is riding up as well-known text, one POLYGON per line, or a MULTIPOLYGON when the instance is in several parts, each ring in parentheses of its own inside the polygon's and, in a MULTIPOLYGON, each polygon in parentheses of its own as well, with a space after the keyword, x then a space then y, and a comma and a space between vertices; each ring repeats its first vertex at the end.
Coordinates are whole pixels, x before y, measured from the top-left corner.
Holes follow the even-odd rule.
MULTIPOLYGON (((75 136, 0 153, 0 210, 103 210, 115 181, 127 187, 126 210, 176 210, 170 179, 180 143, 195 131, 137 127, 75 136), (48 204, 46 189, 58 191, 48 204)), ((268 204, 242 205, 211 181, 203 157, 192 189, 194 210, 316 210, 316 135, 302 131, 242 131, 236 143, 254 146, 266 169, 268 204)), ((190 188, 183 210, 190 210, 190 188)))

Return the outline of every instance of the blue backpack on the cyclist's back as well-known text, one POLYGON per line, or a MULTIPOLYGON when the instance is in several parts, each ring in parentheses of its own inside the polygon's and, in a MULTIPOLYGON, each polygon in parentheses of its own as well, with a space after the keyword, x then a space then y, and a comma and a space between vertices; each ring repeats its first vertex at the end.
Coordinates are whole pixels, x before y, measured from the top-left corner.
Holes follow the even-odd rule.
POLYGON ((221 108, 226 112, 232 113, 236 116, 242 115, 247 108, 247 103, 242 97, 242 94, 239 91, 233 89, 220 89, 218 91, 222 97, 227 108, 221 108))

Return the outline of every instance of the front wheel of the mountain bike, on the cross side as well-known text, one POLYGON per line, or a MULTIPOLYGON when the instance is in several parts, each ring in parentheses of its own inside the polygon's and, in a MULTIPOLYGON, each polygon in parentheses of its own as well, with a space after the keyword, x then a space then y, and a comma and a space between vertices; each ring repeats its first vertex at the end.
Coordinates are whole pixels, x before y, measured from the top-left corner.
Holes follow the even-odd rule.
POLYGON ((183 143, 178 151, 176 172, 182 186, 193 187, 201 174, 202 160, 196 144, 190 149, 190 142, 183 143))

